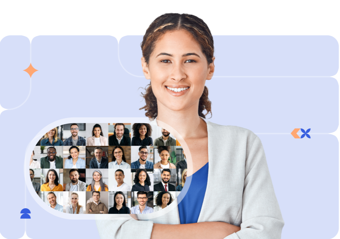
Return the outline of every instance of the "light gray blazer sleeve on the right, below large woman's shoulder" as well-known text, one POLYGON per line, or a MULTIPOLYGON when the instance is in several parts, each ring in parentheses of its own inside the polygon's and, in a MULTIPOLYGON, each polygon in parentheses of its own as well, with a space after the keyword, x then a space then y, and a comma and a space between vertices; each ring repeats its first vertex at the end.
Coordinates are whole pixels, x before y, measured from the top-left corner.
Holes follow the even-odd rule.
POLYGON ((284 221, 257 136, 246 151, 241 230, 225 238, 280 239, 284 221))

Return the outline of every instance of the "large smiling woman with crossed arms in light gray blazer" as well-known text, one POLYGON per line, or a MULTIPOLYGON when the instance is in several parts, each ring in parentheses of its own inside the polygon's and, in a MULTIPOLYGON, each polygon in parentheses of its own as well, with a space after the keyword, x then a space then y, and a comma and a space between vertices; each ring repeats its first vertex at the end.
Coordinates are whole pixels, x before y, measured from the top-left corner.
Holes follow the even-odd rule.
POLYGON ((151 124, 174 129, 188 174, 169 206, 175 208, 156 218, 97 223, 101 238, 281 238, 284 221, 260 139, 248 129, 205 118, 211 113, 205 82, 215 71, 207 23, 190 13, 160 14, 147 27, 141 48, 143 74, 151 81, 141 109, 155 119, 151 124), (104 232, 108 226, 112 233, 104 232), (117 233, 123 228, 129 228, 129 236, 117 233))

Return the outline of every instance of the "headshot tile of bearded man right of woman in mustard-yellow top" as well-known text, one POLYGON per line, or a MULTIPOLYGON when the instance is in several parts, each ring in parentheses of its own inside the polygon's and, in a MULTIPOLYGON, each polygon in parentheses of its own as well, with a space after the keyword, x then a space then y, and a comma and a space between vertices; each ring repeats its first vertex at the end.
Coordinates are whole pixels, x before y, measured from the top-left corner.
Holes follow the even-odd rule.
POLYGON ((64 191, 85 192, 86 191, 86 170, 85 169, 64 169, 64 191))

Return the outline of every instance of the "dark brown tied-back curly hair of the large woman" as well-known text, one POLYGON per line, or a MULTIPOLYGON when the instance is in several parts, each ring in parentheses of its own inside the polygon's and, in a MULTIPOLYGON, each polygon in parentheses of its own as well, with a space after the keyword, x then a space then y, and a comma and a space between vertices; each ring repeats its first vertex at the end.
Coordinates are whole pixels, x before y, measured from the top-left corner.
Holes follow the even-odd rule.
MULTIPOLYGON (((157 16, 148 26, 144 33, 143 41, 140 44, 142 54, 147 65, 149 64, 150 55, 155 49, 155 44, 160 36, 167 31, 184 29, 188 31, 197 43, 201 46, 208 64, 212 63, 214 57, 214 39, 211 31, 205 21, 196 15, 190 13, 164 13, 157 16)), ((149 118, 155 118, 158 114, 157 99, 152 92, 151 82, 145 87, 145 94, 141 93, 145 99, 146 105, 141 109, 147 112, 145 115, 149 118)), ((205 118, 211 114, 211 101, 208 98, 208 88, 204 86, 202 96, 199 100, 198 115, 205 118), (206 110, 206 113, 203 111, 206 110)))

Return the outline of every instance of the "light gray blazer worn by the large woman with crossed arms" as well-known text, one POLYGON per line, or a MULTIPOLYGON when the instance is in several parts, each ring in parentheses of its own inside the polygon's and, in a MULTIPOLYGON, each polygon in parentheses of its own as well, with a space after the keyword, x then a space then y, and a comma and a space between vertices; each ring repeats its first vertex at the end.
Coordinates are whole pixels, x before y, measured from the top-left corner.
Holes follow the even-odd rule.
MULTIPOLYGON (((207 122, 207 129, 208 182, 198 222, 241 226, 239 232, 225 239, 280 239, 284 221, 260 139, 237 126, 207 122)), ((132 239, 136 235, 149 239, 153 223, 180 224, 177 204, 185 195, 188 182, 185 185, 173 203, 154 213, 138 214, 139 220, 122 215, 119 220, 107 220, 117 218, 116 214, 97 216, 101 239, 132 239), (138 233, 140 228, 142 234, 138 233)))

